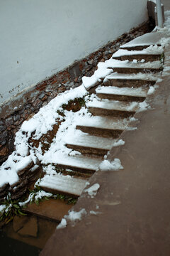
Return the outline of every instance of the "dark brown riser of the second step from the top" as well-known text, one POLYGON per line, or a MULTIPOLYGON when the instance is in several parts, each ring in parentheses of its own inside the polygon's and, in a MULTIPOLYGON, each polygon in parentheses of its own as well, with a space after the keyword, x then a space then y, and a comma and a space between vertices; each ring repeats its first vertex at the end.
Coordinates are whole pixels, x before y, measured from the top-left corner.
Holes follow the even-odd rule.
POLYGON ((156 61, 156 60, 160 60, 161 55, 124 55, 124 56, 120 56, 120 57, 113 57, 113 59, 115 60, 146 60, 146 62, 148 61, 156 61))

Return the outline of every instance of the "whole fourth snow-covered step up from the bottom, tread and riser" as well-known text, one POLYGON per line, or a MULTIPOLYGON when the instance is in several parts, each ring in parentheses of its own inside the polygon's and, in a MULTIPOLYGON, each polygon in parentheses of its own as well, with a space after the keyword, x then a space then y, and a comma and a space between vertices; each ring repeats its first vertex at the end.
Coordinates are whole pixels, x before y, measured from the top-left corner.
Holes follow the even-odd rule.
POLYGON ((128 119, 118 117, 89 117, 77 122, 77 129, 91 135, 118 138, 128 124, 128 119))

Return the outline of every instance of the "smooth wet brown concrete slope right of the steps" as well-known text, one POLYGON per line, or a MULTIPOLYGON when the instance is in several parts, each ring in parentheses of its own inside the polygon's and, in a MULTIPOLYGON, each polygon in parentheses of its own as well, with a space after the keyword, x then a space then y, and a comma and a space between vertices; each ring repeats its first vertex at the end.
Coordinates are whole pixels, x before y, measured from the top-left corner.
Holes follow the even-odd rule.
POLYGON ((152 110, 135 114, 137 129, 123 132, 125 145, 111 151, 124 169, 91 177, 100 184, 96 197, 83 193, 73 208, 87 214, 56 230, 41 256, 170 255, 170 47, 165 56, 163 81, 147 98, 152 110))

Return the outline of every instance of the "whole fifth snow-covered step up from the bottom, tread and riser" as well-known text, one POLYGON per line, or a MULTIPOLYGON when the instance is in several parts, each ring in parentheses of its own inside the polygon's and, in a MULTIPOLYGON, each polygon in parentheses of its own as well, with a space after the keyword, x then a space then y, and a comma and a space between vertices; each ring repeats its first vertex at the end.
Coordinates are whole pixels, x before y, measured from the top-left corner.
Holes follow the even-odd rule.
POLYGON ((137 111, 137 102, 120 102, 114 100, 94 100, 86 104, 89 111, 98 116, 130 117, 137 111))

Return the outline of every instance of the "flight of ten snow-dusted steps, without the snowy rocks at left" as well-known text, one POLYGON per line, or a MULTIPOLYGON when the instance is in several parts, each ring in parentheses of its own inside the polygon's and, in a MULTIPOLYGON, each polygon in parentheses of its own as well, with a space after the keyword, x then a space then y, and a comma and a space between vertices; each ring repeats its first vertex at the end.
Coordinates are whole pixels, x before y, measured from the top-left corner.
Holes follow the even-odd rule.
MULTIPOLYGON (((94 174, 103 156, 119 145, 118 137, 127 129, 130 117, 139 109, 139 102, 147 97, 149 87, 156 82, 155 73, 162 70, 162 48, 149 47, 151 44, 127 44, 113 54, 113 60, 119 60, 107 67, 113 73, 102 78, 103 82, 96 87, 96 97, 86 102, 92 117, 79 119, 76 129, 81 132, 65 138, 67 148, 79 151, 81 155, 65 155, 61 160, 52 161, 61 173, 45 174, 40 181, 45 191, 80 196, 88 181, 88 176, 80 174, 94 174), (64 170, 71 176, 66 176, 64 170)), ((92 91, 94 88, 89 90, 92 91)))

